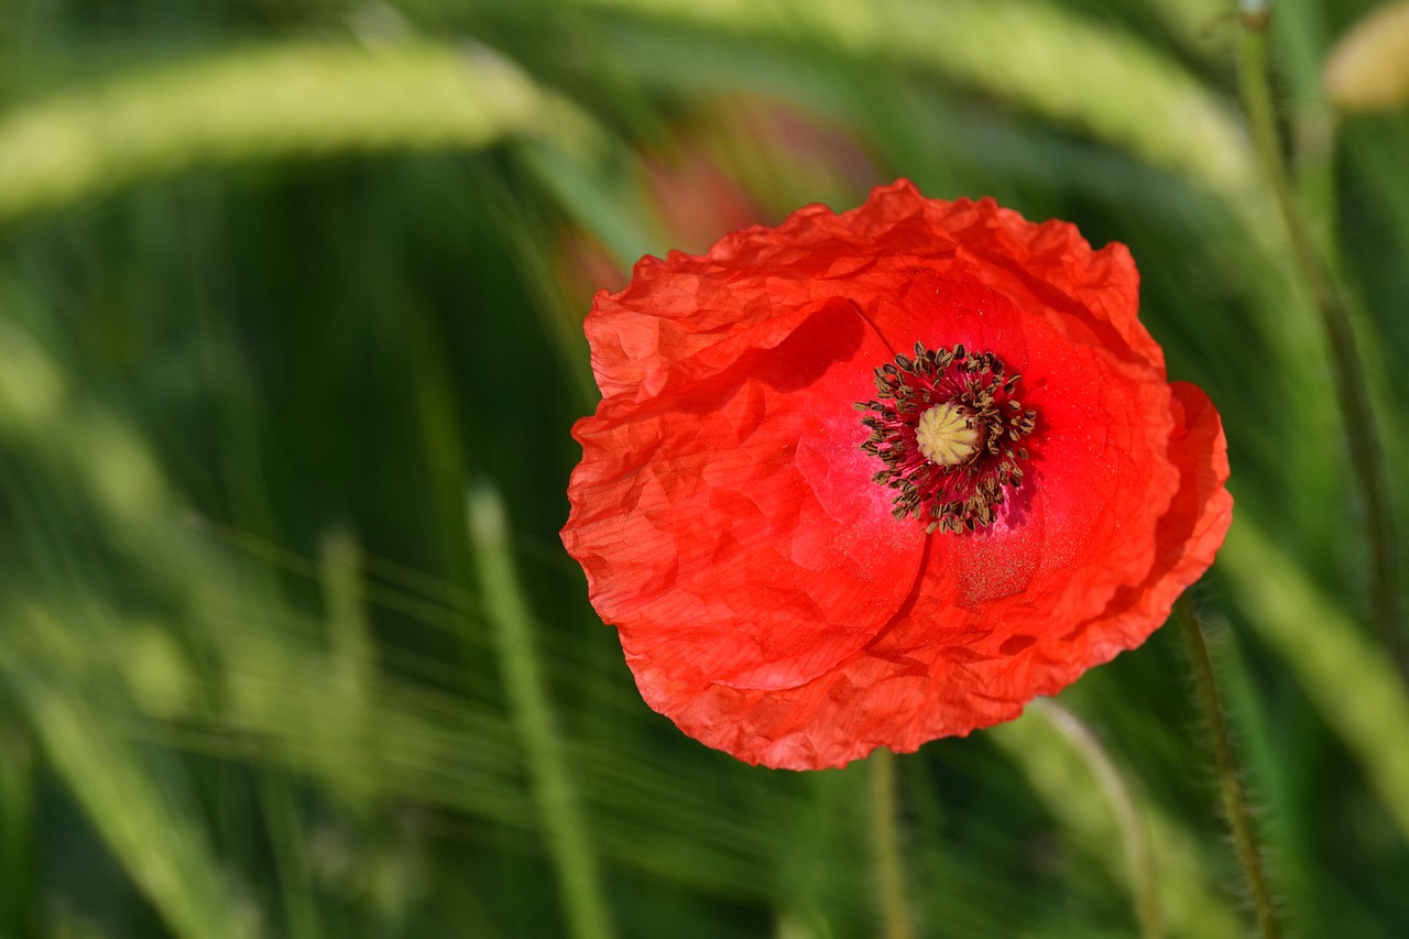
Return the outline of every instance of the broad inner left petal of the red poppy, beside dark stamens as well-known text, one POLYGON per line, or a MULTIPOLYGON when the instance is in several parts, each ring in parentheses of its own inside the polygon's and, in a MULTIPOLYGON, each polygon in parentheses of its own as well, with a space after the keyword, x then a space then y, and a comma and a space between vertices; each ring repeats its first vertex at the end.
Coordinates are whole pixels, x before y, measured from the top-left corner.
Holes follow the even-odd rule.
POLYGON ((805 684, 871 640, 919 570, 859 451, 888 350, 833 300, 676 364, 578 423, 568 551, 634 656, 693 682, 805 684), (862 382, 864 386, 864 382, 862 382))

